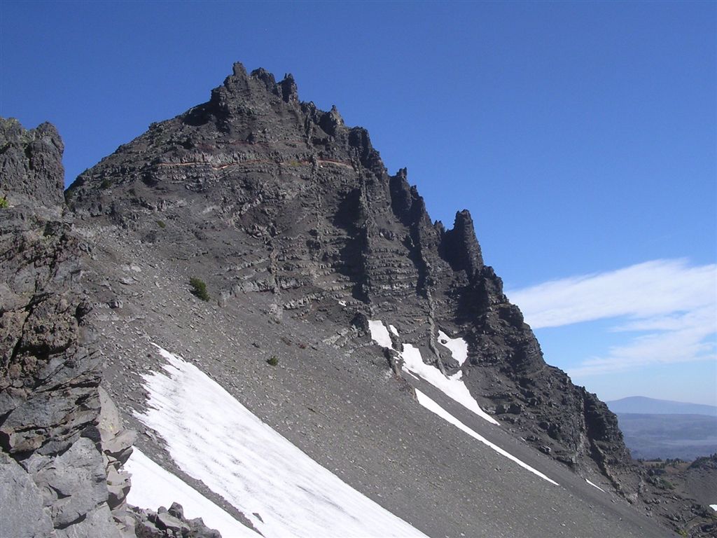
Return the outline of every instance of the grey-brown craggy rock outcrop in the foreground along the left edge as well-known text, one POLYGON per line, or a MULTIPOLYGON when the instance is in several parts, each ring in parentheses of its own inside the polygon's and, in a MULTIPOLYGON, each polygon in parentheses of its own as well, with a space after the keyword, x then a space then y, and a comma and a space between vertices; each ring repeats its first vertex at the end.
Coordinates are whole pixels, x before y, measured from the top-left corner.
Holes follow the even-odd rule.
POLYGON ((96 421, 100 364, 82 345, 82 244, 59 205, 62 141, 47 123, 0 128, 3 534, 119 537, 96 421))

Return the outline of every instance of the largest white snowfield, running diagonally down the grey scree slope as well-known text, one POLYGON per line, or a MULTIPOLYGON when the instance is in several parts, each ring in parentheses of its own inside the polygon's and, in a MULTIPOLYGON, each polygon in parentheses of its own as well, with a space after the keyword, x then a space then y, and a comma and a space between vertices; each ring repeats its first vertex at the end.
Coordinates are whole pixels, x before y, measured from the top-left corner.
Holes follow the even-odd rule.
POLYGON ((265 537, 425 536, 313 461, 193 364, 159 352, 168 364, 143 376, 148 410, 136 416, 164 438, 182 471, 265 537))

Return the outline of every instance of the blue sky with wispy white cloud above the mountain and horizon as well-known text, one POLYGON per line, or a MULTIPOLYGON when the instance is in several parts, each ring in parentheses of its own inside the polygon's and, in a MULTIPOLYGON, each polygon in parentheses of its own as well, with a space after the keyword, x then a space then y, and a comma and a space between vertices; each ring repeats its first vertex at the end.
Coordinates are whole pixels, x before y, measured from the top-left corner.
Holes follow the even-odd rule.
POLYGON ((470 209, 549 363, 605 400, 715 405, 716 11, 4 0, 0 115, 57 125, 69 183, 232 62, 291 72, 407 166, 432 218, 470 209))

